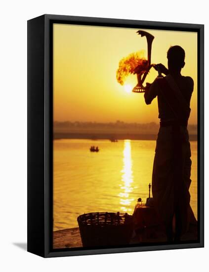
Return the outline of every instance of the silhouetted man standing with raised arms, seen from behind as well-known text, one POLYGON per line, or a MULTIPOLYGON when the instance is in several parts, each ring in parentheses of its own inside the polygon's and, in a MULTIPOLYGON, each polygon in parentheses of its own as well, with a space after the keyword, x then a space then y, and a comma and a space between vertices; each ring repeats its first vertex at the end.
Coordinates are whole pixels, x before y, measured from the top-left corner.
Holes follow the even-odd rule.
POLYGON ((152 175, 152 194, 167 230, 167 240, 179 241, 186 232, 190 214, 191 150, 187 123, 194 82, 181 75, 185 51, 178 45, 167 51, 168 70, 156 65, 166 75, 156 79, 144 94, 146 104, 158 97, 160 130, 156 142, 152 175))

